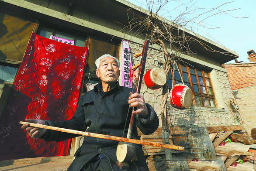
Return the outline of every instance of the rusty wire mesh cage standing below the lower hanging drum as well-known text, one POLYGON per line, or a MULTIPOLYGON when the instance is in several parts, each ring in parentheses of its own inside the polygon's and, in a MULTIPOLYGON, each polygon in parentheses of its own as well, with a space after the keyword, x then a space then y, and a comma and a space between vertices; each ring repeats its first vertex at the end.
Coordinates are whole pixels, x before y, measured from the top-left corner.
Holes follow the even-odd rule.
POLYGON ((179 155, 198 160, 217 159, 200 112, 196 112, 193 106, 189 109, 176 109, 169 104, 168 115, 173 132, 173 144, 186 149, 186 152, 179 155))

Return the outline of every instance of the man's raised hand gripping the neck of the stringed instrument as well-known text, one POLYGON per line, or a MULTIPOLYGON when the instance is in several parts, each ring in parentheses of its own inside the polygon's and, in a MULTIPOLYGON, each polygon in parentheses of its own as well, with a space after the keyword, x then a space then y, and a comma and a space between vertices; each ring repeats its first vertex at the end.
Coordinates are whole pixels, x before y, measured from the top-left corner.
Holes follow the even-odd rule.
POLYGON ((146 106, 144 97, 141 94, 130 92, 128 103, 131 107, 137 107, 137 110, 133 111, 131 114, 139 114, 144 118, 148 116, 149 111, 146 106))

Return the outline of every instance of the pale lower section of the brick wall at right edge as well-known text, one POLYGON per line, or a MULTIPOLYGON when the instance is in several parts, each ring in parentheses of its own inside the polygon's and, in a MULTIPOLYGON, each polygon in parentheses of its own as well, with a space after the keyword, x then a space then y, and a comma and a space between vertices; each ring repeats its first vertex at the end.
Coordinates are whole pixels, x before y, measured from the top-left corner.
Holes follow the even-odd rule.
POLYGON ((256 85, 233 90, 240 114, 250 131, 256 127, 256 85))

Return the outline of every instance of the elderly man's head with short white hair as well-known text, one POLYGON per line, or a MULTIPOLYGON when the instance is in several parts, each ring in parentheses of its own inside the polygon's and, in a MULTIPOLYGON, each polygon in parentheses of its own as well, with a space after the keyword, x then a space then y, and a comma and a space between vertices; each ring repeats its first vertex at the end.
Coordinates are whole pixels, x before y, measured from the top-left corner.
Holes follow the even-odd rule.
POLYGON ((118 81, 119 74, 118 63, 114 58, 105 57, 100 60, 99 68, 96 69, 96 75, 102 82, 116 82, 118 81))

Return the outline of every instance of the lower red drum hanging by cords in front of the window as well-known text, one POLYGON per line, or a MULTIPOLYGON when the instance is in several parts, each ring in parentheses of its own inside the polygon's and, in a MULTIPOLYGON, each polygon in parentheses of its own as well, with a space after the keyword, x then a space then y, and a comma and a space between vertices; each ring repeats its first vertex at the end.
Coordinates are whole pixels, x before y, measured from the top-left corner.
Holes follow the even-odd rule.
POLYGON ((192 103, 192 91, 185 84, 176 84, 170 91, 170 104, 177 109, 187 109, 192 103))

